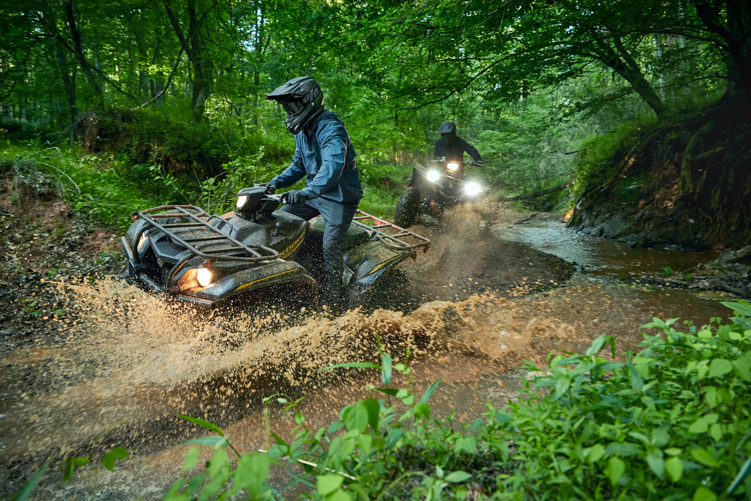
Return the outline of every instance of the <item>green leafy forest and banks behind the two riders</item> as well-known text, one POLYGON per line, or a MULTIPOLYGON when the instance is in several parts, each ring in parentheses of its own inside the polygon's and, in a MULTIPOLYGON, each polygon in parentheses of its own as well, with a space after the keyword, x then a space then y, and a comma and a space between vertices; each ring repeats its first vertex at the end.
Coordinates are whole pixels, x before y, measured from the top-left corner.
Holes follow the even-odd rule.
POLYGON ((59 183, 89 186, 77 203, 107 223, 103 206, 221 205, 275 174, 294 146, 263 98, 309 75, 347 124, 374 212, 389 213, 453 119, 506 196, 573 181, 543 208, 573 202, 575 222, 606 235, 748 240, 740 0, 14 2, 2 14, 8 144, 58 148, 44 155, 68 166, 59 183))

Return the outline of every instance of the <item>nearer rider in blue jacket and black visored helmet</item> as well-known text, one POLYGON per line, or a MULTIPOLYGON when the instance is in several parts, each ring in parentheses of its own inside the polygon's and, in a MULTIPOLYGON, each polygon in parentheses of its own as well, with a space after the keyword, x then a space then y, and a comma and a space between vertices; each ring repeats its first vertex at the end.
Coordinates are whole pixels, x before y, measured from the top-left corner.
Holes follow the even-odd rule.
POLYGON ((324 110, 321 86, 311 77, 297 77, 277 87, 266 99, 282 104, 287 112, 285 125, 294 134, 294 157, 282 174, 270 180, 273 192, 297 183, 307 176, 306 186, 282 194, 288 202, 283 211, 308 221, 323 216, 324 279, 321 300, 325 305, 341 304, 341 240, 357 204, 363 197, 360 175, 354 164, 355 152, 344 122, 324 110))

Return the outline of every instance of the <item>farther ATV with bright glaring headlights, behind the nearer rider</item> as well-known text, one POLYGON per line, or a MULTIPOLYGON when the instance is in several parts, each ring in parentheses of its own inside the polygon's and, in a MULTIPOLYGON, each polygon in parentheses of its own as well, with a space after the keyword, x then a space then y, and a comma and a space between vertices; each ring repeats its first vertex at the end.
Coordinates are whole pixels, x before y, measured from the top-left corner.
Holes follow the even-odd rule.
POLYGON ((433 160, 434 168, 418 165, 412 169, 409 185, 397 202, 394 223, 403 228, 426 214, 441 219, 446 207, 478 201, 484 189, 464 175, 464 161, 433 160))

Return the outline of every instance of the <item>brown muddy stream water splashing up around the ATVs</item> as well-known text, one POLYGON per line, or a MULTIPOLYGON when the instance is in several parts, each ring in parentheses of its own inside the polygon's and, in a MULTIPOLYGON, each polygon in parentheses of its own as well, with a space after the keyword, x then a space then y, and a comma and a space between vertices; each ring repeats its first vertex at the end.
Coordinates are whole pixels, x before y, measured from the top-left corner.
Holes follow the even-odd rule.
MULTIPOLYGON (((525 359, 582 351, 603 332, 625 351, 653 315, 698 324, 727 316, 713 298, 623 280, 664 266, 685 271, 710 254, 631 249, 555 220, 510 225, 519 214, 492 224, 470 210, 452 216, 444 228, 418 229, 433 247, 403 265, 409 286, 391 294, 389 309, 339 318, 288 311, 281 300, 263 314, 197 314, 117 279, 46 284, 69 314, 50 318, 54 340, 4 351, 0 494, 56 457, 35 499, 158 499, 181 475, 181 444, 204 434, 176 414, 208 418, 250 451, 264 445, 261 399, 277 392, 305 397, 310 427, 330 424, 342 406, 371 396, 376 375, 318 369, 375 360, 375 330, 395 361, 408 347, 415 353, 418 388, 443 376, 434 414, 472 421, 486 400, 514 398, 525 359), (573 274, 566 261, 577 262, 573 274), (96 469, 115 445, 131 459, 114 472, 96 469), (66 454, 93 461, 62 484, 66 454)), ((281 410, 273 406, 271 426, 284 435, 294 423, 281 410)))

